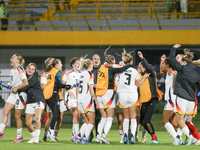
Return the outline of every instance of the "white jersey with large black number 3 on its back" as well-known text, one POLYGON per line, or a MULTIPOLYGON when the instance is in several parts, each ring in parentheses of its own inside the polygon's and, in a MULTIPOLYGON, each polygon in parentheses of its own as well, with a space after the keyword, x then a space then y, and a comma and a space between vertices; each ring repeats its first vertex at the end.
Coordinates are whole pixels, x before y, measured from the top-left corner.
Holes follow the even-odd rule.
POLYGON ((136 69, 130 67, 126 71, 119 74, 117 92, 137 92, 135 80, 139 79, 136 69))

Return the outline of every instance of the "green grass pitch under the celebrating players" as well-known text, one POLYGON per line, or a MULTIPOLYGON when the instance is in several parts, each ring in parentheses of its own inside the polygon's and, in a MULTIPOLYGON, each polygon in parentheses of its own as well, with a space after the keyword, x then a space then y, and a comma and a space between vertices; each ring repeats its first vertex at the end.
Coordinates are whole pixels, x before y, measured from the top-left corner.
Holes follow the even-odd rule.
MULTIPOLYGON (((76 144, 70 141, 71 129, 60 129, 58 134, 59 143, 52 143, 49 140, 45 143, 41 142, 43 129, 40 135, 39 144, 28 144, 27 141, 30 140, 30 134, 26 128, 23 128, 24 140, 20 143, 12 143, 16 136, 16 128, 6 128, 5 137, 0 139, 0 150, 183 150, 183 149, 199 149, 199 146, 172 146, 169 143, 172 141, 172 138, 166 131, 157 131, 156 135, 159 139, 159 144, 135 144, 135 145, 124 145, 120 144, 120 136, 117 130, 110 130, 107 138, 110 141, 110 145, 106 144, 97 144, 92 142, 88 145, 76 144)), ((147 135, 147 141, 150 141, 150 136, 147 135)), ((141 133, 139 134, 139 140, 141 140, 141 133)))

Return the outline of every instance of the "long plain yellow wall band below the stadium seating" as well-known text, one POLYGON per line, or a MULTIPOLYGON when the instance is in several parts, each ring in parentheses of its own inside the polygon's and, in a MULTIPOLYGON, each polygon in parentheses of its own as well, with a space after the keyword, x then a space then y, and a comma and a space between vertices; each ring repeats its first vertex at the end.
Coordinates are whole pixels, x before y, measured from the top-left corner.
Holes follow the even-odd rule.
POLYGON ((200 30, 1 31, 0 45, 187 45, 200 44, 200 30))

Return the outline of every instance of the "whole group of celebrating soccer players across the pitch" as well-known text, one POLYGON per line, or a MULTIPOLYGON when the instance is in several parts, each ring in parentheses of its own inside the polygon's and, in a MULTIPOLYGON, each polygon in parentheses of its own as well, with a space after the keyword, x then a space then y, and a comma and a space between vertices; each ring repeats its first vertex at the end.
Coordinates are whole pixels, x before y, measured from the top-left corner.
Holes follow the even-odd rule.
MULTIPOLYGON (((161 56, 160 73, 166 76, 166 105, 162 124, 173 138, 172 145, 184 144, 182 133, 188 138, 187 145, 199 145, 200 136, 192 123, 192 117, 197 112, 195 90, 200 89, 200 75, 196 68, 200 66, 200 62, 193 61, 194 55, 188 49, 175 57, 176 49, 180 46, 174 45, 169 57, 161 56)), ((46 142, 47 138, 52 142, 59 142, 57 135, 63 114, 70 110, 73 115, 72 142, 89 144, 94 137, 92 130, 95 125, 95 142, 110 144, 106 136, 116 113, 120 143, 138 143, 141 124, 142 142, 146 143, 145 135, 148 132, 152 137, 148 143, 158 144, 151 118, 163 93, 157 88, 155 71, 140 51, 138 56, 141 62, 136 70, 131 53, 123 49, 120 55, 122 61, 118 65, 113 55, 107 55, 108 50, 109 48, 105 50, 105 63, 102 65, 98 54, 92 60, 86 56, 72 58, 69 62, 72 70, 64 75, 61 60, 47 58, 40 84, 36 64, 30 63, 24 70, 24 59, 21 55, 14 54, 10 59, 13 66, 11 82, 0 82, 11 92, 3 110, 0 138, 4 137, 8 114, 15 107, 17 137, 13 143, 23 140, 21 114, 26 106, 25 121, 31 135, 27 143, 39 143, 41 115, 46 106, 48 119, 42 142, 46 142), (34 115, 35 130, 32 125, 34 115), (79 129, 80 115, 85 123, 79 129)))

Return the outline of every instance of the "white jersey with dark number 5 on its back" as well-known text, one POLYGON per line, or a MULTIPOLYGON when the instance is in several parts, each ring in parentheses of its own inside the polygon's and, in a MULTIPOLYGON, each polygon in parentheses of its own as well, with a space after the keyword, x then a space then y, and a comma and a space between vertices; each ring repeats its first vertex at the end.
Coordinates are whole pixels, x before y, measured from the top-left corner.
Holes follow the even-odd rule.
POLYGON ((87 102, 91 100, 89 85, 94 84, 94 76, 89 71, 81 72, 79 79, 78 102, 87 102))

